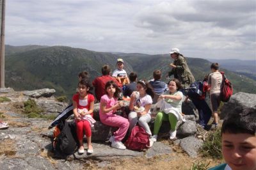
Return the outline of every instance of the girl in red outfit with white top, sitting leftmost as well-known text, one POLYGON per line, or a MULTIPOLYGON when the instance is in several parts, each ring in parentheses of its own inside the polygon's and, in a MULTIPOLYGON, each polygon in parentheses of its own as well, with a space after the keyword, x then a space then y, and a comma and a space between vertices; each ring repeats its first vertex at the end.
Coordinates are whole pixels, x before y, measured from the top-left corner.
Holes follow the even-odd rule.
POLYGON ((83 136, 86 134, 88 150, 87 153, 93 153, 92 148, 92 130, 91 127, 95 120, 93 120, 93 107, 94 107, 94 97, 88 91, 92 88, 89 81, 82 79, 78 83, 78 93, 73 97, 73 112, 76 118, 77 125, 77 138, 79 141, 78 153, 84 153, 83 146, 83 136))

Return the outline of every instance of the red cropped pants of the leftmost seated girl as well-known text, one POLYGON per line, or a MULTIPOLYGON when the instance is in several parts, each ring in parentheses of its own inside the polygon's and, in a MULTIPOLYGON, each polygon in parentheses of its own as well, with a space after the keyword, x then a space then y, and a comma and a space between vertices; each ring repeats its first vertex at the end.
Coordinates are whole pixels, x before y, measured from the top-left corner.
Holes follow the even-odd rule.
POLYGON ((84 134, 86 137, 91 137, 92 130, 89 121, 76 120, 76 133, 78 140, 83 140, 84 134))

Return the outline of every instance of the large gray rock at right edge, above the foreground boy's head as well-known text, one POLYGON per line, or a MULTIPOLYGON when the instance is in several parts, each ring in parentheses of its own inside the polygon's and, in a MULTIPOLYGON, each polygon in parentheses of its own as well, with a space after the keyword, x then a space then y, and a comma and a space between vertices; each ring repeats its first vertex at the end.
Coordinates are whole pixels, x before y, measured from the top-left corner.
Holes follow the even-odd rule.
POLYGON ((256 95, 250 93, 239 92, 225 103, 221 109, 220 118, 224 119, 228 114, 237 114, 246 108, 256 108, 256 95))

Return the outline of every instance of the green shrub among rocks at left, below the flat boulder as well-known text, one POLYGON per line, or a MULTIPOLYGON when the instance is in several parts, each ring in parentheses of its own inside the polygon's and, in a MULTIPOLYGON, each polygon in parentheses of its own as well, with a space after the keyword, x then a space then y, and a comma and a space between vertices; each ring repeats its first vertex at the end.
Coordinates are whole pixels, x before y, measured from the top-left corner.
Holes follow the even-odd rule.
POLYGON ((36 105, 35 100, 29 98, 29 100, 24 102, 24 114, 28 118, 42 118, 41 112, 44 112, 44 110, 36 105))

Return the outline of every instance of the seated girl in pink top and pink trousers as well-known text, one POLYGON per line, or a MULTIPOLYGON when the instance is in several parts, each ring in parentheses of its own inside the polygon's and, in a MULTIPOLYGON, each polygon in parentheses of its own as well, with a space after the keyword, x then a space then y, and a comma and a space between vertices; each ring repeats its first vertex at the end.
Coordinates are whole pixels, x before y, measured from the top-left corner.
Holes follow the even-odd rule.
POLYGON ((126 147, 121 141, 129 128, 129 121, 115 114, 116 109, 120 109, 123 106, 122 102, 117 101, 121 90, 115 82, 108 81, 105 91, 106 95, 100 98, 100 121, 110 127, 118 127, 118 130, 109 138, 109 141, 113 148, 125 150, 126 147))

